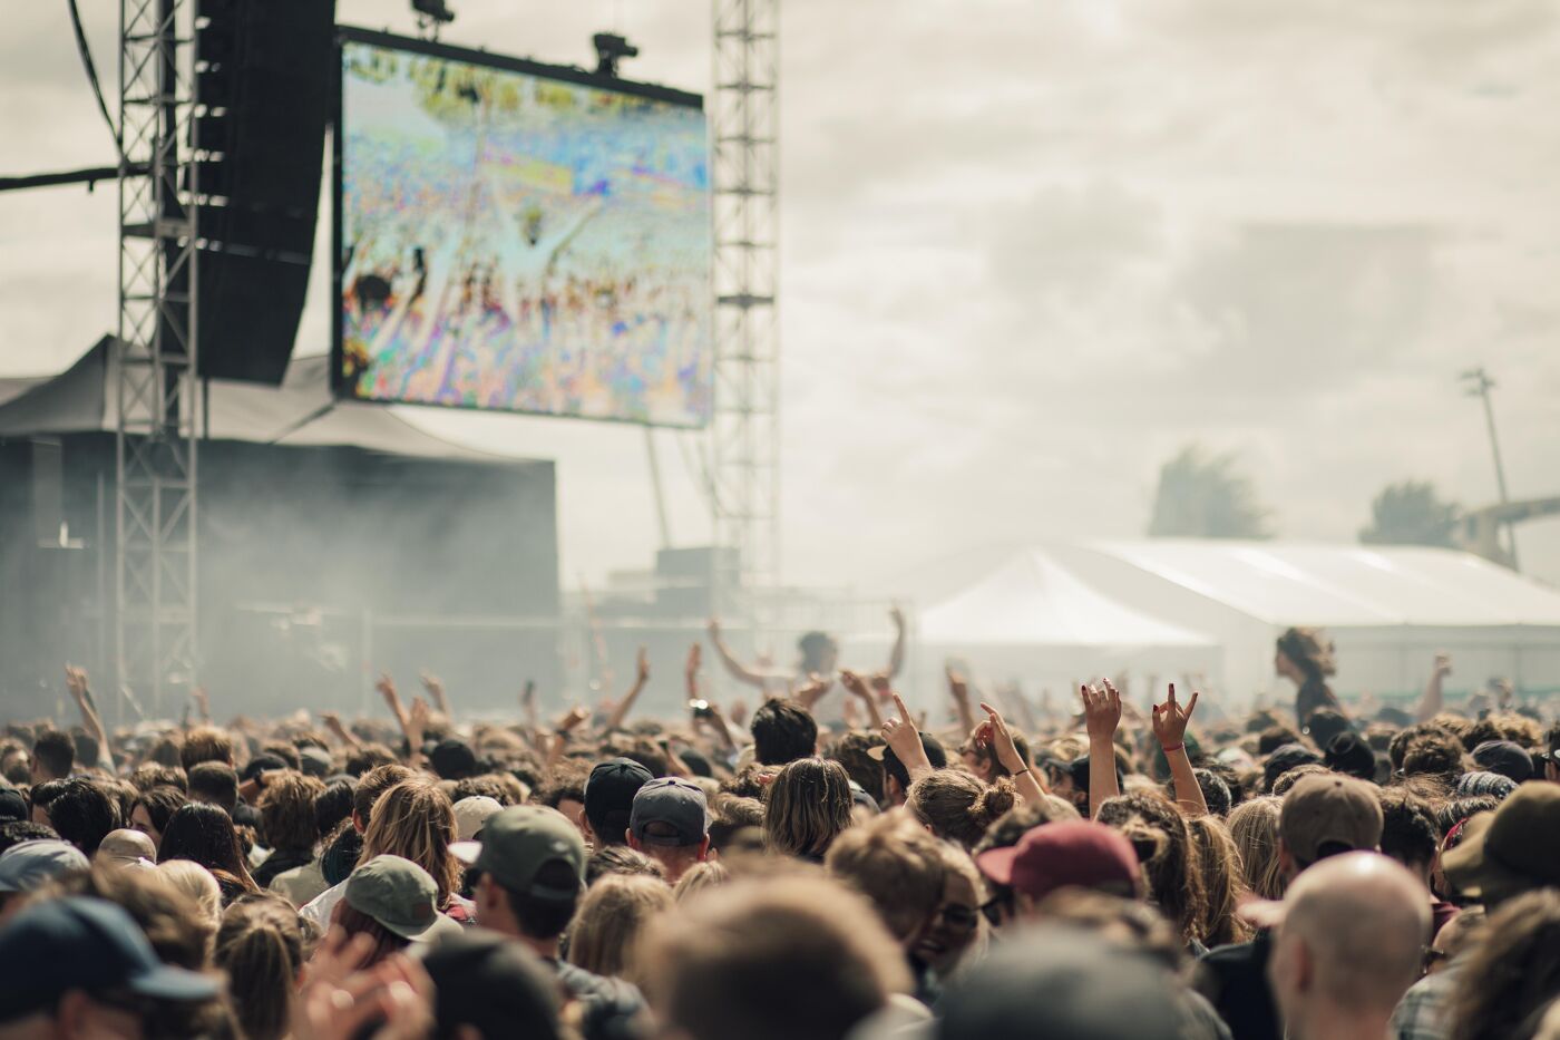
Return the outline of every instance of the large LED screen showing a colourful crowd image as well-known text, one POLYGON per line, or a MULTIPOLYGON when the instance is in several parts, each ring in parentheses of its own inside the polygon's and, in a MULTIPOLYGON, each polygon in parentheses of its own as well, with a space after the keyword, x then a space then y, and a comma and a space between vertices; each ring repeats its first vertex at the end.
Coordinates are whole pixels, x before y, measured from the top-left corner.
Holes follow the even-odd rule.
POLYGON ((696 95, 353 30, 335 141, 339 394, 708 422, 696 95))

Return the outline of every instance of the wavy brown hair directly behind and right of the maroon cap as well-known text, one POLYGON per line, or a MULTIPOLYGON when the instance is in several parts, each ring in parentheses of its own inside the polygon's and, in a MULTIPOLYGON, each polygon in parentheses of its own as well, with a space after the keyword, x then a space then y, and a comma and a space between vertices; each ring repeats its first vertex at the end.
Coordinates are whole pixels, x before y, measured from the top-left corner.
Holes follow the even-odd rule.
POLYGON ((1201 940, 1207 915, 1197 845, 1181 810, 1158 790, 1111 798, 1100 806, 1100 823, 1133 843, 1148 879, 1148 895, 1187 942, 1201 940))

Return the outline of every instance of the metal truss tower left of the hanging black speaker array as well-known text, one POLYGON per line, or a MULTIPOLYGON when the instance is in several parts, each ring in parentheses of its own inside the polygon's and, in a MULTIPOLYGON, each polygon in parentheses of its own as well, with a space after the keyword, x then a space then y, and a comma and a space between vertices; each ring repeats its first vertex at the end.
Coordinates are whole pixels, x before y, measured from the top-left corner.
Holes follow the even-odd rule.
POLYGON ((161 709, 197 661, 195 0, 120 0, 119 41, 114 657, 161 709))

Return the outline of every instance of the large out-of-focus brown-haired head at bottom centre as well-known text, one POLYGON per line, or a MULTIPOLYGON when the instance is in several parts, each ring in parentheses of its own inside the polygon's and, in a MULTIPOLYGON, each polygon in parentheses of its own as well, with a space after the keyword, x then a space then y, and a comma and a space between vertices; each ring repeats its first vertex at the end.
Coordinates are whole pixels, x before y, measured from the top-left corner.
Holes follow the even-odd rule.
POLYGON ((866 903, 817 878, 702 893, 643 943, 651 1004, 691 1040, 842 1040, 909 988, 905 956, 866 903))

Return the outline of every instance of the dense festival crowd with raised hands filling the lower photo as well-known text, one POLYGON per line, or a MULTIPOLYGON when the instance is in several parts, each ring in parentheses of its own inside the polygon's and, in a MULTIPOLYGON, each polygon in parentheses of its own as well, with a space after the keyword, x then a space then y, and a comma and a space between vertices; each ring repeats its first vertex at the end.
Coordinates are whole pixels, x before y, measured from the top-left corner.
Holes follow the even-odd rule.
POLYGON ((0 743, 0 1040, 1560 1040, 1560 725, 1445 656, 1367 715, 1292 629, 1293 715, 1036 721, 711 636, 752 711, 694 648, 677 720, 641 654, 552 725, 424 676, 111 732, 67 668, 80 725, 0 743))

